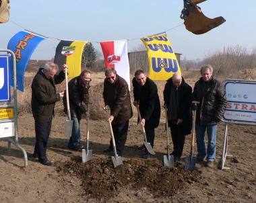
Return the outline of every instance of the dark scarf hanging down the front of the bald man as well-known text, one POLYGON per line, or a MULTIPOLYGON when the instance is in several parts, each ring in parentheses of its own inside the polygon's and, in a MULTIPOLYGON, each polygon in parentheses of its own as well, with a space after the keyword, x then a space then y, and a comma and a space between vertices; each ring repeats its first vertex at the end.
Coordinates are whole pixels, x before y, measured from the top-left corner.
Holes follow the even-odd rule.
POLYGON ((179 87, 170 87, 170 102, 168 105, 168 120, 171 120, 172 124, 177 124, 179 114, 179 87))

